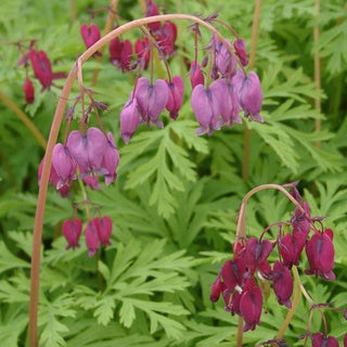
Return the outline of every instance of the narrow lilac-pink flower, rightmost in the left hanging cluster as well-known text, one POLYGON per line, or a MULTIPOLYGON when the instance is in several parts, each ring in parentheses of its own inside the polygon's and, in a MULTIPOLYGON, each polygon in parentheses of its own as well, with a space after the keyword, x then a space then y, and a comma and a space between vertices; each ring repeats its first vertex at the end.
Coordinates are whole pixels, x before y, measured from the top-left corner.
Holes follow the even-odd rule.
POLYGON ((106 185, 110 185, 117 177, 116 169, 119 163, 119 153, 112 132, 108 132, 107 140, 106 150, 101 163, 101 174, 104 175, 106 185))

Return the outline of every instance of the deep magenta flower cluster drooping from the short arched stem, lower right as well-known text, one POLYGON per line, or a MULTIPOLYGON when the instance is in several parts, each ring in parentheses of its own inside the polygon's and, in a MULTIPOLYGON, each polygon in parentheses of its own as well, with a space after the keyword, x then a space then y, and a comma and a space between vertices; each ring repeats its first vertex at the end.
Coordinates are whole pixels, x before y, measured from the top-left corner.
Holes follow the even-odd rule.
MULTIPOLYGON (((226 310, 244 319, 245 332, 260 324, 264 301, 261 282, 272 282, 279 304, 292 307, 294 284, 291 270, 299 265, 304 248, 309 264, 305 273, 335 280, 333 231, 323 228, 321 217, 311 217, 309 205, 301 200, 295 184, 292 185, 292 196, 297 204, 291 220, 271 224, 260 237, 236 242, 233 259, 226 261, 213 284, 211 301, 222 296, 226 310), (318 224, 320 228, 317 228, 318 224), (265 240, 265 234, 273 226, 278 227, 277 239, 265 240), (284 232, 288 229, 292 232, 284 232), (275 248, 278 260, 271 265, 268 258, 275 248)), ((320 333, 312 335, 313 346, 335 346, 333 340, 334 337, 320 333)))

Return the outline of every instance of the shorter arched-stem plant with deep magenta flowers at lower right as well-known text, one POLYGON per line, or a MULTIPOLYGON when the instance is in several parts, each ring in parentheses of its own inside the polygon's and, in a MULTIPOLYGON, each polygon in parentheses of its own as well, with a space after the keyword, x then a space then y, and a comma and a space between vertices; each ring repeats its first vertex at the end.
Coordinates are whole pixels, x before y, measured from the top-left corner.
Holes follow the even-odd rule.
MULTIPOLYGON (((346 319, 347 310, 333 308, 331 304, 314 303, 300 282, 297 269, 305 249, 309 264, 309 269, 306 269, 305 273, 313 274, 316 278, 326 281, 335 280, 333 271, 334 233, 323 226, 323 217, 311 216, 309 205, 301 198, 296 183, 264 184, 252 190, 243 198, 237 221, 236 240, 233 245, 233 258, 227 260, 222 266, 210 293, 211 301, 218 301, 222 296, 226 311, 240 317, 237 346, 242 346, 243 332, 255 330, 256 325, 260 324, 264 295, 266 295, 262 294, 262 288, 268 287, 266 284, 269 285, 271 282, 277 300, 280 305, 286 306, 290 312, 280 329, 278 338, 258 344, 258 346, 287 346, 282 337, 291 323, 300 293, 310 304, 310 314, 306 334, 298 336, 298 338, 305 339, 304 346, 306 346, 308 338, 311 339, 312 347, 338 346, 337 339, 327 335, 327 323, 323 310, 342 311, 346 319), (287 192, 286 188, 290 188, 291 192, 287 192), (271 223, 262 230, 259 237, 247 237, 245 222, 247 201, 256 192, 266 189, 280 190, 295 205, 295 210, 291 220, 271 223), (265 239, 273 229, 277 230, 275 236, 272 240, 265 239), (271 254, 278 257, 272 266, 268 260, 271 254), (293 303, 291 300, 294 290, 292 272, 297 288, 293 303), (312 313, 316 310, 322 317, 324 333, 311 332, 312 313)), ((344 342, 345 347, 346 340, 347 334, 344 342)))

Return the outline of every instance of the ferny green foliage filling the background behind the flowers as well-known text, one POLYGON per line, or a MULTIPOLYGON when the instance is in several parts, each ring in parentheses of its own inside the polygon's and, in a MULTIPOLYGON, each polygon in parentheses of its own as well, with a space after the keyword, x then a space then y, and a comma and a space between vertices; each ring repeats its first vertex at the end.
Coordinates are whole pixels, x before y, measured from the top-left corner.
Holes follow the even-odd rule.
MULTIPOLYGON (((167 12, 217 11, 250 42, 254 1, 162 1, 167 12)), ((105 1, 76 1, 77 22, 69 1, 1 0, 0 90, 29 115, 48 137, 60 89, 53 87, 25 106, 24 69, 14 46, 4 41, 36 38, 49 52, 55 70, 68 72, 83 51, 79 26, 88 9, 105 1)), ((136 1, 121 0, 121 21, 141 16, 136 1)), ((106 14, 95 22, 103 27, 106 14)), ((174 73, 187 74, 182 56, 193 56, 187 23, 179 23, 178 56, 174 73)), ((220 28, 229 35, 224 28, 220 28)), ((129 34, 134 39, 140 33, 129 34)), ((203 48, 209 34, 203 31, 203 48)), ((201 53, 202 54, 202 53, 201 53)), ((201 55, 202 56, 202 55, 201 55)), ((110 106, 103 114, 108 129, 119 136, 119 112, 133 76, 123 75, 105 57, 83 68, 85 82, 101 67, 94 90, 110 106)), ((44 223, 39 308, 40 346, 233 346, 237 321, 222 303, 209 301, 210 284, 230 257, 235 218, 243 195, 255 185, 300 180, 299 188, 313 215, 326 216, 334 229, 337 281, 325 283, 303 277, 312 297, 347 306, 347 18, 345 2, 322 1, 319 15, 312 0, 264 0, 256 51, 265 95, 265 124, 252 129, 249 180, 242 178, 245 126, 196 138, 188 78, 184 105, 177 121, 164 130, 144 129, 125 146, 120 139, 117 181, 90 197, 112 217, 112 246, 88 258, 86 246, 65 250, 61 223, 72 216, 72 201, 50 190, 44 223), (321 37, 313 42, 313 26, 321 37), (319 50, 322 90, 313 83, 313 52, 319 50), (322 112, 314 110, 321 98, 322 112), (322 119, 322 130, 314 120, 322 119), (321 142, 321 149, 316 143, 321 142)), ((59 80, 57 85, 62 86, 59 80)), ((39 90, 39 86, 36 86, 39 90)), ((26 345, 29 259, 37 200, 37 168, 42 149, 27 128, 0 102, 0 340, 3 346, 26 345)), ((167 117, 168 118, 168 117, 167 117)), ((76 200, 82 200, 76 193, 76 200)), ((260 193, 248 207, 248 233, 290 218, 292 206, 278 193, 260 193)), ((80 210, 82 214, 82 210, 80 210)), ((245 334, 245 344, 273 338, 286 309, 270 296, 262 324, 245 334)), ((300 303, 286 338, 299 346, 308 306, 300 303)), ((318 331, 321 320, 314 317, 318 331)), ((329 314, 331 334, 342 338, 346 322, 329 314)))

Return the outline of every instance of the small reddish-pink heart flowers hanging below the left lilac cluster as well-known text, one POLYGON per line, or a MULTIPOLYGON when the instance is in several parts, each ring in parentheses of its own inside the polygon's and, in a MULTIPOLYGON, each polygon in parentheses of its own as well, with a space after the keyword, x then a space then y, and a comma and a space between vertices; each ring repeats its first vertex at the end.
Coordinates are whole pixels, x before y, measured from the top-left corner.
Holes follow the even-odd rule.
MULTIPOLYGON (((67 241, 66 249, 79 247, 82 221, 79 218, 66 219, 63 222, 63 235, 67 241)), ((111 245, 112 220, 108 216, 94 217, 86 226, 86 245, 89 257, 92 257, 100 246, 111 245)))

